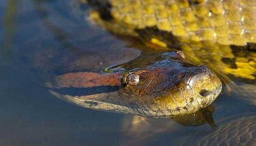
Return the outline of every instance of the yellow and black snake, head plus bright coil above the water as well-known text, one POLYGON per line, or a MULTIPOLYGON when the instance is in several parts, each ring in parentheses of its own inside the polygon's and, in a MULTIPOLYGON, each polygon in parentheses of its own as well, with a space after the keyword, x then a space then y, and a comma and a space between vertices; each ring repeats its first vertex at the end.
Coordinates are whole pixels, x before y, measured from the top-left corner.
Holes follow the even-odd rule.
POLYGON ((90 22, 115 36, 138 38, 155 52, 107 73, 58 76, 50 87, 111 88, 83 96, 51 91, 60 99, 97 110, 176 117, 205 108, 217 98, 222 84, 212 69, 255 82, 256 4, 251 0, 88 0, 86 4, 91 8, 90 22))

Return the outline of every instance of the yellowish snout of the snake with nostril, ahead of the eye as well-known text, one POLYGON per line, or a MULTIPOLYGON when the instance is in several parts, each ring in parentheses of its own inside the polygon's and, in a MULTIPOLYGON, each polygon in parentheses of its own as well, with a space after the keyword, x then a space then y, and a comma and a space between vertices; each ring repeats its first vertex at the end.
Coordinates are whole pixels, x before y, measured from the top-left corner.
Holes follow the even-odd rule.
MULTIPOLYGON (((206 66, 192 66, 179 69, 168 90, 157 99, 163 109, 167 107, 172 115, 194 113, 209 106, 219 96, 222 85, 217 75, 206 66)), ((174 71, 174 70, 172 70, 174 71)))

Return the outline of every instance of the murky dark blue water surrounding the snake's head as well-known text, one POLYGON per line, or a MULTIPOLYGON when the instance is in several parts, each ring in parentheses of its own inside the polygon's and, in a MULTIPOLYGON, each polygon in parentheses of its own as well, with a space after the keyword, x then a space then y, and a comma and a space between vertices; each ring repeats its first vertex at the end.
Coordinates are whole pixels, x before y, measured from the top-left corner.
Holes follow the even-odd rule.
MULTIPOLYGON (((89 24, 80 9, 68 0, 0 3, 0 145, 186 145, 215 132, 208 124, 189 127, 171 119, 84 109, 51 95, 45 82, 52 75, 96 72, 141 53, 89 24)), ((221 93, 213 103, 217 128, 247 114, 256 117, 253 99, 253 93, 221 93)))

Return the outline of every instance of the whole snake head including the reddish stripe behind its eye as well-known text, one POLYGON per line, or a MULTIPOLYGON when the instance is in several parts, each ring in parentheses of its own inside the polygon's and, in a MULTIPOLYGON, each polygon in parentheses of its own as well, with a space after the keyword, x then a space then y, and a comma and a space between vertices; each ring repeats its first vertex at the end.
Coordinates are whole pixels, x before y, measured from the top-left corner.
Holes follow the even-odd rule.
POLYGON ((145 58, 148 60, 137 62, 122 73, 116 73, 116 69, 105 74, 67 73, 57 76, 50 85, 51 88, 114 87, 115 91, 83 96, 51 93, 85 108, 144 117, 175 117, 209 106, 221 91, 215 73, 206 66, 187 62, 180 51, 154 53, 145 58), (139 77, 138 84, 129 82, 130 75, 139 77))

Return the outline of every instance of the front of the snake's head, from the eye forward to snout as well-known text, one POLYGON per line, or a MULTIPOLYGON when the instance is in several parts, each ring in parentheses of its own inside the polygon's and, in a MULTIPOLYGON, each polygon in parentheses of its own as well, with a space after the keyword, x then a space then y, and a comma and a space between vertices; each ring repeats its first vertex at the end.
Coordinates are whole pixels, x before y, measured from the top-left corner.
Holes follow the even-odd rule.
POLYGON ((209 106, 221 88, 211 69, 186 61, 179 51, 169 51, 153 64, 127 71, 119 95, 151 117, 173 117, 209 106))

